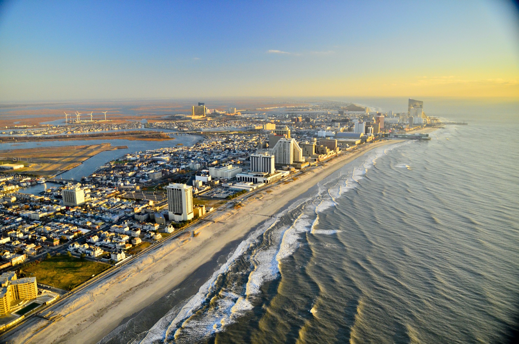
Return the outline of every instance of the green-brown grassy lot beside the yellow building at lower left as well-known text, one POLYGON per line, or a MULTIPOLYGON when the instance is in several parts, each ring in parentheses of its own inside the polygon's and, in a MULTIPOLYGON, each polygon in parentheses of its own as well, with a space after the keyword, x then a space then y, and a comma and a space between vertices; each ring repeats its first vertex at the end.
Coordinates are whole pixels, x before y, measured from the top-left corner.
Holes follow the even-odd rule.
POLYGON ((22 267, 25 275, 36 277, 36 282, 57 288, 72 290, 83 282, 110 268, 109 264, 76 257, 55 256, 38 264, 22 267))

